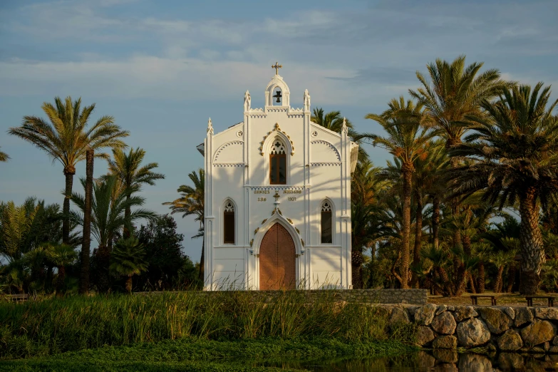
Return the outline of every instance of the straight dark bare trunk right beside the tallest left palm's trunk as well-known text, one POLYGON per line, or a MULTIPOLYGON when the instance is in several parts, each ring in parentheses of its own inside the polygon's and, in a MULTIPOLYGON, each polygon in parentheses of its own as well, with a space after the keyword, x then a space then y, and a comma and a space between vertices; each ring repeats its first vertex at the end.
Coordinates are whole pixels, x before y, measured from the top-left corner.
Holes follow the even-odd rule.
MULTIPOLYGON (((91 200, 93 199, 93 159, 94 151, 86 151, 86 200, 83 214, 83 237, 81 240, 80 294, 89 292, 89 256, 91 254, 91 200)), ((66 201, 65 201, 66 202, 66 201)), ((66 207, 66 205, 64 206, 66 207)), ((68 210, 69 210, 68 202, 68 210)))

